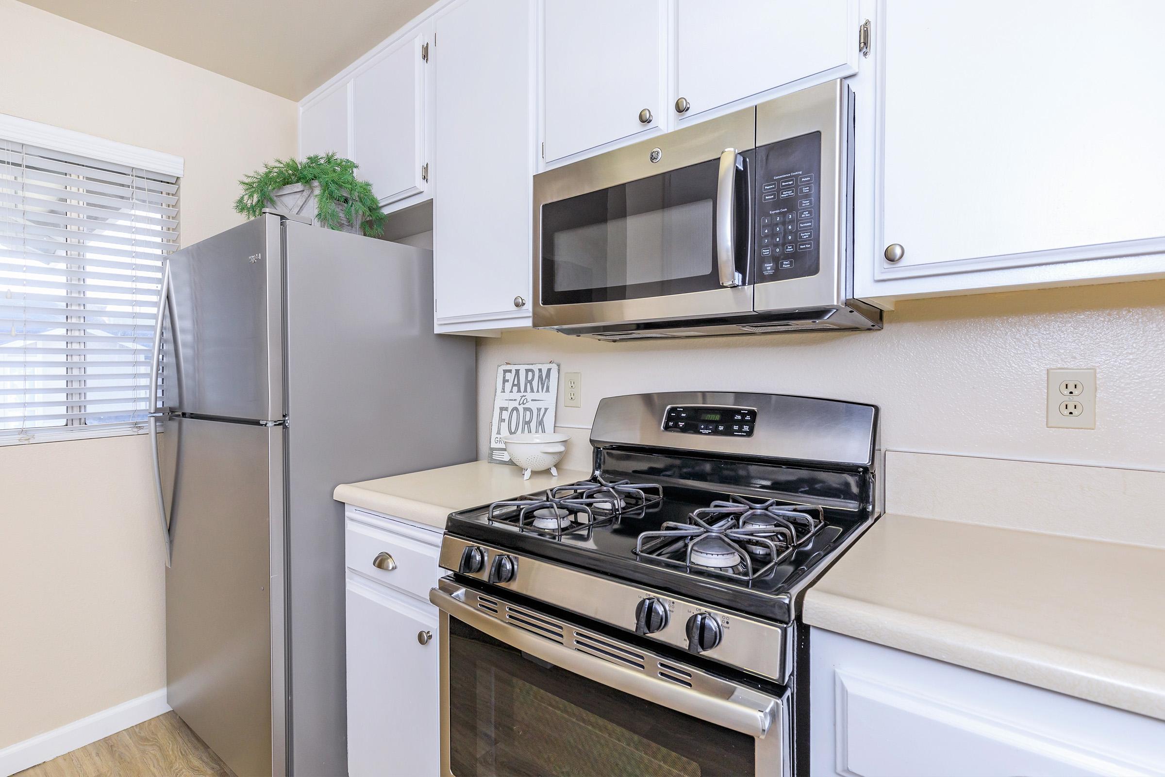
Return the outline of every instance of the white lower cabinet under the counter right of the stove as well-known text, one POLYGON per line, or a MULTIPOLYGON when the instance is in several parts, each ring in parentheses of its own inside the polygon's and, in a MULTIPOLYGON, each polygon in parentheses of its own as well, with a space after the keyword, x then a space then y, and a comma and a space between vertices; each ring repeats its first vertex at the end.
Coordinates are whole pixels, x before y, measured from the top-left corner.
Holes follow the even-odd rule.
POLYGON ((811 774, 1165 774, 1165 722, 812 629, 811 774))

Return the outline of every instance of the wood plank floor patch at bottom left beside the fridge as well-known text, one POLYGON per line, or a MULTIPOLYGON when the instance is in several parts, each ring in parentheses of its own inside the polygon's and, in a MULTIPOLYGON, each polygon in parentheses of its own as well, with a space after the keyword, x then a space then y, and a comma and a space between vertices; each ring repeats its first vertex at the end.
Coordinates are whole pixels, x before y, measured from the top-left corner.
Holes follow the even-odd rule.
POLYGON ((234 777, 174 712, 26 769, 17 777, 234 777))

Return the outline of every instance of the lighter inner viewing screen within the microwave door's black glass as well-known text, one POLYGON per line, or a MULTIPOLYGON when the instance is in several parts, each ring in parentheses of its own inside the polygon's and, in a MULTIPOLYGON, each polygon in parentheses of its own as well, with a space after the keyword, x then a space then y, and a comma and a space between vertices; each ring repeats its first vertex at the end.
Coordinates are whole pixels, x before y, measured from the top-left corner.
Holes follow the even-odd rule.
POLYGON ((700 277, 712 270, 711 199, 555 233, 556 291, 700 277))

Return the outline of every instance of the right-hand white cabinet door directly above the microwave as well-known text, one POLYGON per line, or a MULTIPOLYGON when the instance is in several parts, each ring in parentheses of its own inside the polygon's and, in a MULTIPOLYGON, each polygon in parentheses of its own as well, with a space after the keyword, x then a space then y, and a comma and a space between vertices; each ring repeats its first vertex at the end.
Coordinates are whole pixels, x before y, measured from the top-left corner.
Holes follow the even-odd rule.
POLYGON ((677 0, 673 98, 690 104, 677 116, 855 73, 857 33, 857 0, 677 0))

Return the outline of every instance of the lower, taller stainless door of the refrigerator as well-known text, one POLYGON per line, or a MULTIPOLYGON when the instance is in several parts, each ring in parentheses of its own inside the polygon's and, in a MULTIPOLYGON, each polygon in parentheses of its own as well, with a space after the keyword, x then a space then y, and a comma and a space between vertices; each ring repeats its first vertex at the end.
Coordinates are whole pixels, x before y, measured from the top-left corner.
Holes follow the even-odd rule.
POLYGON ((236 775, 284 769, 283 436, 175 417, 160 438, 168 701, 236 775))

